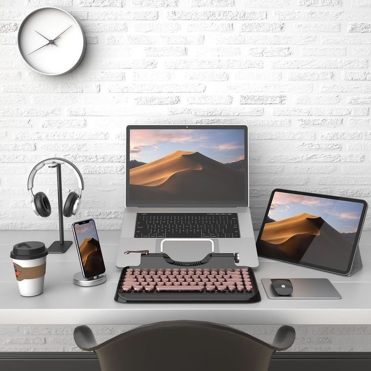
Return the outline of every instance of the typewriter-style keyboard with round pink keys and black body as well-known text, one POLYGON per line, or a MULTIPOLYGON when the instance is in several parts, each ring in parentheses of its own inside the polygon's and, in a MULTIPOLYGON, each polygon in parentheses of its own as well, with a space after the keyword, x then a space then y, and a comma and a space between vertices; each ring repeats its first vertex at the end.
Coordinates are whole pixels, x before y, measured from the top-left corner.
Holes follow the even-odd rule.
POLYGON ((142 253, 140 266, 122 269, 115 300, 256 302, 260 293, 253 270, 236 266, 235 254, 175 262, 164 253, 142 253))

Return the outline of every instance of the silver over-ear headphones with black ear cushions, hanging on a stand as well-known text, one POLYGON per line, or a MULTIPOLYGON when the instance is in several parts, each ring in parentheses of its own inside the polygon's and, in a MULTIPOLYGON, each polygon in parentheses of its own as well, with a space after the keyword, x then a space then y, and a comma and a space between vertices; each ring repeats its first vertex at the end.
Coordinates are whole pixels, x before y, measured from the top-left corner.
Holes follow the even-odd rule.
MULTIPOLYGON (((38 170, 40 170, 45 165, 50 164, 65 164, 67 167, 72 169, 72 171, 75 173, 77 182, 79 183, 79 194, 76 192, 70 192, 67 196, 65 206, 63 208, 63 215, 65 217, 70 217, 72 215, 76 215, 80 208, 80 202, 81 202, 81 194, 84 189, 84 179, 81 175, 80 170, 74 165, 71 161, 65 160, 64 158, 47 158, 46 160, 43 160, 39 162, 30 172, 30 175, 28 176, 28 190, 31 191, 31 205, 32 209, 35 212, 36 215, 42 216, 43 218, 46 218, 51 213, 51 207, 49 199, 46 197, 46 195, 43 192, 37 192, 36 195, 33 194, 33 180, 35 178, 35 175, 38 170)), ((52 166, 50 166, 52 167, 52 166)))

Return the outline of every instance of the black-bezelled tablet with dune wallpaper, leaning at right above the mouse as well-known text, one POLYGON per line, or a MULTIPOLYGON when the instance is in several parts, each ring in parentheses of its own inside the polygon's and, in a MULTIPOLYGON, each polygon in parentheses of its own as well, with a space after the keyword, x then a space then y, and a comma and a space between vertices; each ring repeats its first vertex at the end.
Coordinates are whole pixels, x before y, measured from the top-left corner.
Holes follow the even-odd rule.
POLYGON ((347 275, 366 210, 363 200, 276 189, 257 239, 258 255, 347 275))

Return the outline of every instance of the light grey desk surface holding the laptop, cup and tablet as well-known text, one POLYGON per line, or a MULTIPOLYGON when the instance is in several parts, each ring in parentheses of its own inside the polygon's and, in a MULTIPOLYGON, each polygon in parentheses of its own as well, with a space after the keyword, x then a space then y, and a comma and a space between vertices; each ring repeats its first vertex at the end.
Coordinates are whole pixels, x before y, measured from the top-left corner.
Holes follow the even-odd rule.
MULTIPOLYGON (((79 287, 72 276, 80 270, 75 245, 66 254, 50 254, 44 293, 19 295, 9 257, 14 243, 44 241, 56 231, 2 231, 0 241, 0 323, 2 324, 144 324, 164 320, 203 320, 228 324, 371 324, 371 232, 360 243, 363 270, 344 277, 292 264, 260 259, 255 269, 262 300, 258 303, 117 303, 113 300, 120 270, 115 266, 119 231, 101 231, 107 282, 79 287), (262 278, 328 278, 342 295, 340 300, 271 300, 262 278)), ((72 239, 67 232, 66 239, 72 239)))

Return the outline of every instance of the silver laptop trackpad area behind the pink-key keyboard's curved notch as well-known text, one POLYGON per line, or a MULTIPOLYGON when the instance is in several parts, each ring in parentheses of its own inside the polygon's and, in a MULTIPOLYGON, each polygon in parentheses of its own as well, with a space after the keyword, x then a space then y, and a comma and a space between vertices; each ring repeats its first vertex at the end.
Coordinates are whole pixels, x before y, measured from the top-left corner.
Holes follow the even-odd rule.
POLYGON ((167 254, 177 262, 195 262, 202 260, 206 255, 216 252, 217 246, 214 240, 209 238, 200 239, 172 239, 164 238, 156 240, 156 252, 167 254))

